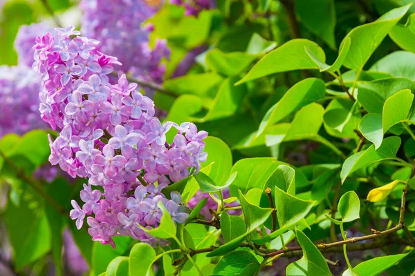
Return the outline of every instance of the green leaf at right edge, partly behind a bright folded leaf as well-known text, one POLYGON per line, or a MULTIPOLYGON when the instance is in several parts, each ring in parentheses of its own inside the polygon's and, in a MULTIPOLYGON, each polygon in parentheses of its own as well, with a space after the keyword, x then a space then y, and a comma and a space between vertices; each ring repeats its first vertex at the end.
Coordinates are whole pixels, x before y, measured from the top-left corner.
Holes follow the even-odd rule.
POLYGON ((404 78, 378 79, 358 84, 358 101, 368 111, 382 114, 386 99, 404 89, 414 90, 414 81, 404 78))

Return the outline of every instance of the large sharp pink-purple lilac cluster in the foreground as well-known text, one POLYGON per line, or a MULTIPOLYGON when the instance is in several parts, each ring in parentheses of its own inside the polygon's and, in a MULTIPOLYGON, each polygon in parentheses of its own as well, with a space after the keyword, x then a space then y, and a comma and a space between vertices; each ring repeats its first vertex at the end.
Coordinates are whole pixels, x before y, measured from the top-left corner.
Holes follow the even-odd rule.
POLYGON ((199 171, 207 158, 203 139, 208 132, 198 132, 191 123, 162 124, 154 117, 153 101, 136 90, 136 83, 125 75, 118 83, 109 81, 107 75, 120 62, 98 51, 99 41, 80 37, 73 27, 57 31, 56 45, 48 33, 37 37, 33 68, 43 76, 42 119, 61 130, 55 141, 50 139, 50 163, 72 177, 89 178, 80 194, 84 205, 72 201, 71 218, 81 228, 89 215, 89 233, 102 244, 114 246, 114 235, 130 235, 155 245, 138 225, 158 226, 158 201, 174 221, 185 221, 181 196, 172 193, 168 200, 160 190, 189 176, 192 168, 199 171), (174 129, 173 143, 167 144, 166 133, 174 129))

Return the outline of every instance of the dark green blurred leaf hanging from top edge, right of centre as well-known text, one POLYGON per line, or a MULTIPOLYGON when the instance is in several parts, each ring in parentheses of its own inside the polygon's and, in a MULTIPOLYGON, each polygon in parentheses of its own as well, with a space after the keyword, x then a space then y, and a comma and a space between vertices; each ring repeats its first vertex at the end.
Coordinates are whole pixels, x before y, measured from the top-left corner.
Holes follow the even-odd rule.
POLYGON ((295 11, 304 25, 335 49, 335 9, 333 0, 295 0, 295 11))

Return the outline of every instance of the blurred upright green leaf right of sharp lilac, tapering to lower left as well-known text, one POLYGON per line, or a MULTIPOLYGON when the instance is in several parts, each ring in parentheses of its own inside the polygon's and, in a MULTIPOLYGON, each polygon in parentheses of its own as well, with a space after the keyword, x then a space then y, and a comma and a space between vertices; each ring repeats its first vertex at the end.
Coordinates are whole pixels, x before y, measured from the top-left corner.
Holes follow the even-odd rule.
POLYGON ((205 121, 212 121, 234 115, 240 108, 241 102, 247 92, 245 85, 234 86, 235 82, 235 78, 225 79, 219 87, 219 91, 212 102, 208 114, 202 119, 194 119, 193 121, 203 123, 205 121))

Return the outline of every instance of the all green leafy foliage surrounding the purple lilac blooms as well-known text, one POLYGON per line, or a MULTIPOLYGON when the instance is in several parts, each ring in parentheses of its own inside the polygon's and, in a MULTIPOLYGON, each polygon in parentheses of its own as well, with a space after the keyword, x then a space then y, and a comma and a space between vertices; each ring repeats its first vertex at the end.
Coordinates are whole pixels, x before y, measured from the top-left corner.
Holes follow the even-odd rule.
MULTIPOLYGON (((409 2, 218 0, 197 18, 165 4, 150 20, 151 39, 165 38, 172 49, 154 101, 166 120, 193 121, 211 136, 202 173, 168 189, 179 190, 185 204, 199 188, 217 195, 222 205, 212 226, 192 223, 201 201, 187 224, 176 228, 166 213, 152 230, 172 241, 169 248, 129 237, 116 237, 115 250, 92 242, 68 220, 82 180, 33 180, 48 162, 46 131, 6 135, 0 179, 10 191, 0 215, 15 270, 46 275, 51 256, 62 275, 68 226, 91 275, 414 273, 415 6, 409 2), (205 51, 189 72, 172 77, 196 47, 205 51), (228 187, 241 216, 229 215, 220 200, 228 187), (352 251, 361 253, 358 262, 349 262, 352 251), (336 252, 344 255, 331 257, 336 252), (284 265, 284 257, 296 259, 284 265)), ((71 1, 48 3, 57 17, 76 9, 71 1)), ((0 63, 17 63, 12 45, 19 26, 48 16, 42 1, 6 1, 0 63)))

